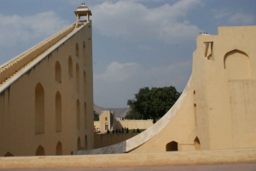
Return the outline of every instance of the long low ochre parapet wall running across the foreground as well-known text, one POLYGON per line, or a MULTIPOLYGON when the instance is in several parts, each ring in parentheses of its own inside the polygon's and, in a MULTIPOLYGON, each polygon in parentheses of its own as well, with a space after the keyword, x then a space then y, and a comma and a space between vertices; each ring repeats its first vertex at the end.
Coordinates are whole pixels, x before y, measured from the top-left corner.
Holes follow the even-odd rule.
POLYGON ((0 168, 106 168, 256 162, 256 148, 58 157, 0 157, 0 168))

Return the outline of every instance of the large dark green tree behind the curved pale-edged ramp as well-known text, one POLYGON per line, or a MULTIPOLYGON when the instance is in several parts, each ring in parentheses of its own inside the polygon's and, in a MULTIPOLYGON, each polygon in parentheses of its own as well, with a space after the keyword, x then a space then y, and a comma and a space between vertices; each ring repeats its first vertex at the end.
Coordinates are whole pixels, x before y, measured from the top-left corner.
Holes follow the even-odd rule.
POLYGON ((176 88, 140 88, 135 98, 127 101, 131 111, 126 115, 127 119, 156 119, 163 117, 175 104, 180 92, 176 88))

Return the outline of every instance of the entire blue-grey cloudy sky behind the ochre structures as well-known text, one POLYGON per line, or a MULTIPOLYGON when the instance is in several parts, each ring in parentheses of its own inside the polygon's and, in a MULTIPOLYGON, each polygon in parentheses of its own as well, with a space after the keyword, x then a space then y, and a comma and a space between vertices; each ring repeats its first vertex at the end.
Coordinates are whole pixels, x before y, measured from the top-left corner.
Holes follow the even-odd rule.
POLYGON ((255 0, 0 0, 0 66, 91 10, 94 103, 126 107, 139 88, 182 92, 200 32, 256 25, 255 0))

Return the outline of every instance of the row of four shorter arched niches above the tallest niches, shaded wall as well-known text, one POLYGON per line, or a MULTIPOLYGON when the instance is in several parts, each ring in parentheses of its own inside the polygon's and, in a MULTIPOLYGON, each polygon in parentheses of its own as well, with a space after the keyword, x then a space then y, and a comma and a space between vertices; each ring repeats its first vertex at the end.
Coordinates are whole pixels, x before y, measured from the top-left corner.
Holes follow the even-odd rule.
MULTIPOLYGON (((76 90, 80 91, 80 71, 79 64, 76 64, 76 90)), ((72 57, 68 57, 68 74, 73 77, 73 60, 72 57)), ((55 62, 55 81, 61 83, 61 64, 59 61, 55 62)), ((84 71, 84 96, 86 95, 86 72, 84 71)))

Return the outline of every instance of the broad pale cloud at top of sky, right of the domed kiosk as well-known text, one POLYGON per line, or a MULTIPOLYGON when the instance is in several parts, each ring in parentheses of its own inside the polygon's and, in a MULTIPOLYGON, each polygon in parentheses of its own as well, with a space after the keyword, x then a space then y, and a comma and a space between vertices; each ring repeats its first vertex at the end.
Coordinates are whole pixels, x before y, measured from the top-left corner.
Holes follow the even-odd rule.
POLYGON ((148 9, 134 1, 105 2, 91 8, 94 28, 108 37, 177 43, 194 39, 201 30, 184 20, 200 0, 181 0, 148 9))

